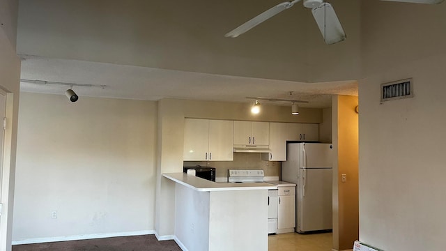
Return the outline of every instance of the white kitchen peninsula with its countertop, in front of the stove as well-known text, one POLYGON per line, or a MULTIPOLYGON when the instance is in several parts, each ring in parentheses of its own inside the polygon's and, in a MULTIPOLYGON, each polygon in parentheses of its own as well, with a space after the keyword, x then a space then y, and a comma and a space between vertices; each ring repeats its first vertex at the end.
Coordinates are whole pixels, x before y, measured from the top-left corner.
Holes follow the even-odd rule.
POLYGON ((268 183, 215 183, 184 173, 176 182, 174 239, 183 250, 268 250, 268 183))

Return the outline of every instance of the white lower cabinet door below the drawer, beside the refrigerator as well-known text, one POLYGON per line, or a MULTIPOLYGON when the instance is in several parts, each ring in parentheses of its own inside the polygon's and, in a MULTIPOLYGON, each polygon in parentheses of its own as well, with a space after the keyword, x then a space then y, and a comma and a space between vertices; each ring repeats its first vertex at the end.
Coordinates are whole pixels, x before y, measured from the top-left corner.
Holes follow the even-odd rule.
POLYGON ((295 227, 295 195, 279 196, 277 229, 295 227))

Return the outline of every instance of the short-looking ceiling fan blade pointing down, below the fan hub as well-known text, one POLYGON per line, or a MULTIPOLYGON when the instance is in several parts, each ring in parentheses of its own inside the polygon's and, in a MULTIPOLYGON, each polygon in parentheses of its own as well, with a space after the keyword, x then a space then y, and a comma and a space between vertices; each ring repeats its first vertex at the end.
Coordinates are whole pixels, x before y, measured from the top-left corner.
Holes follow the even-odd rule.
POLYGON ((330 3, 322 3, 320 6, 313 8, 312 13, 326 44, 332 45, 347 38, 330 3))

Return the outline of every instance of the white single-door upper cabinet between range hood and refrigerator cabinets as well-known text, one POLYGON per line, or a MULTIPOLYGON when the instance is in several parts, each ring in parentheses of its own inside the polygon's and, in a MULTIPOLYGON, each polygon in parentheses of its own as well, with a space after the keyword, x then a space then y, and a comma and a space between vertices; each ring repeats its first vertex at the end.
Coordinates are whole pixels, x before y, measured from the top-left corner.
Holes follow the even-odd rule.
POLYGON ((262 160, 286 160, 286 123, 270 123, 270 153, 262 153, 262 160))

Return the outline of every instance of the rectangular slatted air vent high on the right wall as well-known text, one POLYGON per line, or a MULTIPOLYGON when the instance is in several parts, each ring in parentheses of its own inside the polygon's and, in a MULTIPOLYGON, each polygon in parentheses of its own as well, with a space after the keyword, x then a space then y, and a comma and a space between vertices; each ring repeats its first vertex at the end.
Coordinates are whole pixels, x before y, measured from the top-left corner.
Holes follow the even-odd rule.
POLYGON ((413 79, 381 84, 381 102, 413 97, 413 79))

